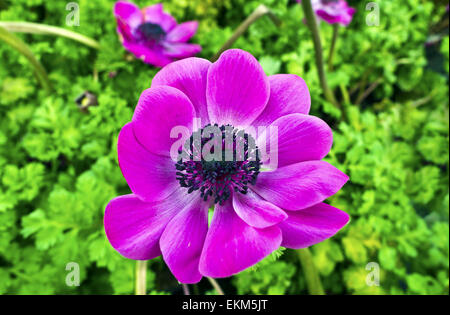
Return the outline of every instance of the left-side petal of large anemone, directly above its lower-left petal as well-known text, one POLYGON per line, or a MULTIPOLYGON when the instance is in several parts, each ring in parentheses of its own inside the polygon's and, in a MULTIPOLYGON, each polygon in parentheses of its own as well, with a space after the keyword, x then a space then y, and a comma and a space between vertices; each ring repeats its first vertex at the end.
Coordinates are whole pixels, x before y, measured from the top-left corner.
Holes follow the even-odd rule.
POLYGON ((133 193, 147 202, 162 200, 179 188, 172 159, 148 152, 133 133, 133 123, 119 134, 117 153, 122 174, 133 193))

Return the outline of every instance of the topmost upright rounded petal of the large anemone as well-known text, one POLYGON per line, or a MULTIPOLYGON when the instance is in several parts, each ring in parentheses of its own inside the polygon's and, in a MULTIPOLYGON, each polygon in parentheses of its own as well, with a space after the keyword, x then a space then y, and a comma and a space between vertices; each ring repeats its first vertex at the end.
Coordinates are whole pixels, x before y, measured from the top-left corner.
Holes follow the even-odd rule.
POLYGON ((227 50, 209 68, 206 100, 213 123, 249 125, 264 110, 269 94, 269 80, 248 52, 227 50))

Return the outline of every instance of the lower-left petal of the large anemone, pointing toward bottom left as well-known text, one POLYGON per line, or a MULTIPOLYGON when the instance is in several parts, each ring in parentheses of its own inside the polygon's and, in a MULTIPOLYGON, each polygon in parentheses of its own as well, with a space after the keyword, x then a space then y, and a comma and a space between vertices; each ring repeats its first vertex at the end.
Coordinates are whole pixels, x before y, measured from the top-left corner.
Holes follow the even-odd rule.
POLYGON ((172 196, 161 203, 145 203, 136 195, 114 198, 106 206, 106 236, 126 258, 155 258, 161 255, 159 238, 178 209, 179 200, 172 196))

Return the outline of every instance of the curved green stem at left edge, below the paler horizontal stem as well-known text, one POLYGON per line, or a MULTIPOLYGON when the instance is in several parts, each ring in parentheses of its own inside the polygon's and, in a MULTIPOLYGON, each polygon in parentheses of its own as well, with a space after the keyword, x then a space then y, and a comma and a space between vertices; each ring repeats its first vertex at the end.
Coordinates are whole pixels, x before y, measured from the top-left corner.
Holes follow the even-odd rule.
POLYGON ((34 68, 34 71, 36 73, 36 76, 41 83, 42 87, 47 91, 47 93, 50 93, 52 91, 52 85, 50 83, 50 80, 47 76, 47 71, 45 71, 42 64, 39 62, 39 60, 36 59, 31 49, 25 44, 20 38, 18 38, 16 35, 8 32, 5 28, 3 28, 0 25, 0 40, 4 41, 14 49, 16 49, 18 52, 20 52, 25 58, 28 59, 28 61, 31 63, 31 65, 34 68))

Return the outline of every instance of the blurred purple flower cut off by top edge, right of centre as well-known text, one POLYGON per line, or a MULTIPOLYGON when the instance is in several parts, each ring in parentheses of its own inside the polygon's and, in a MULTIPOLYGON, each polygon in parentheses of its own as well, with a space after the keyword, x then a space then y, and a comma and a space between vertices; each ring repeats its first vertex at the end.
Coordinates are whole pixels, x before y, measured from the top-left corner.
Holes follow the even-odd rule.
POLYGON ((329 24, 348 26, 356 12, 345 0, 311 0, 311 5, 316 15, 329 24))

